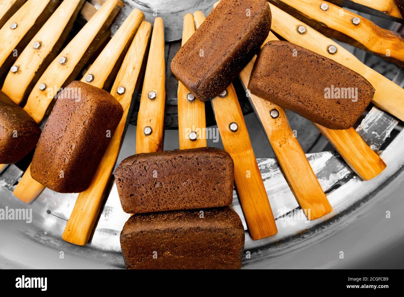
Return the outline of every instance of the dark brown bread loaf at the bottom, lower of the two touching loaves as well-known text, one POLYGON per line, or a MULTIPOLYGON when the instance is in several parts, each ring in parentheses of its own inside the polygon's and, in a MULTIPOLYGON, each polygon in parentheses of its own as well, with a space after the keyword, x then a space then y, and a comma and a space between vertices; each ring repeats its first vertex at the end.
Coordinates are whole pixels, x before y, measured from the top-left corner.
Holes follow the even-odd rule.
POLYGON ((239 269, 244 228, 227 207, 149 213, 130 217, 120 242, 127 269, 239 269))

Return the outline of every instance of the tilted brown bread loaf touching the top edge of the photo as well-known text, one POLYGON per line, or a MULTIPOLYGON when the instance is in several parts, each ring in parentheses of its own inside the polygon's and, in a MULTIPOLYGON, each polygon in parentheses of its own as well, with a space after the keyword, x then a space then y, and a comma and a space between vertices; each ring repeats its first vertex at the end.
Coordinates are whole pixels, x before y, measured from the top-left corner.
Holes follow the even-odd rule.
POLYGON ((211 100, 259 51, 270 27, 266 0, 222 0, 180 48, 171 70, 197 98, 211 100))

